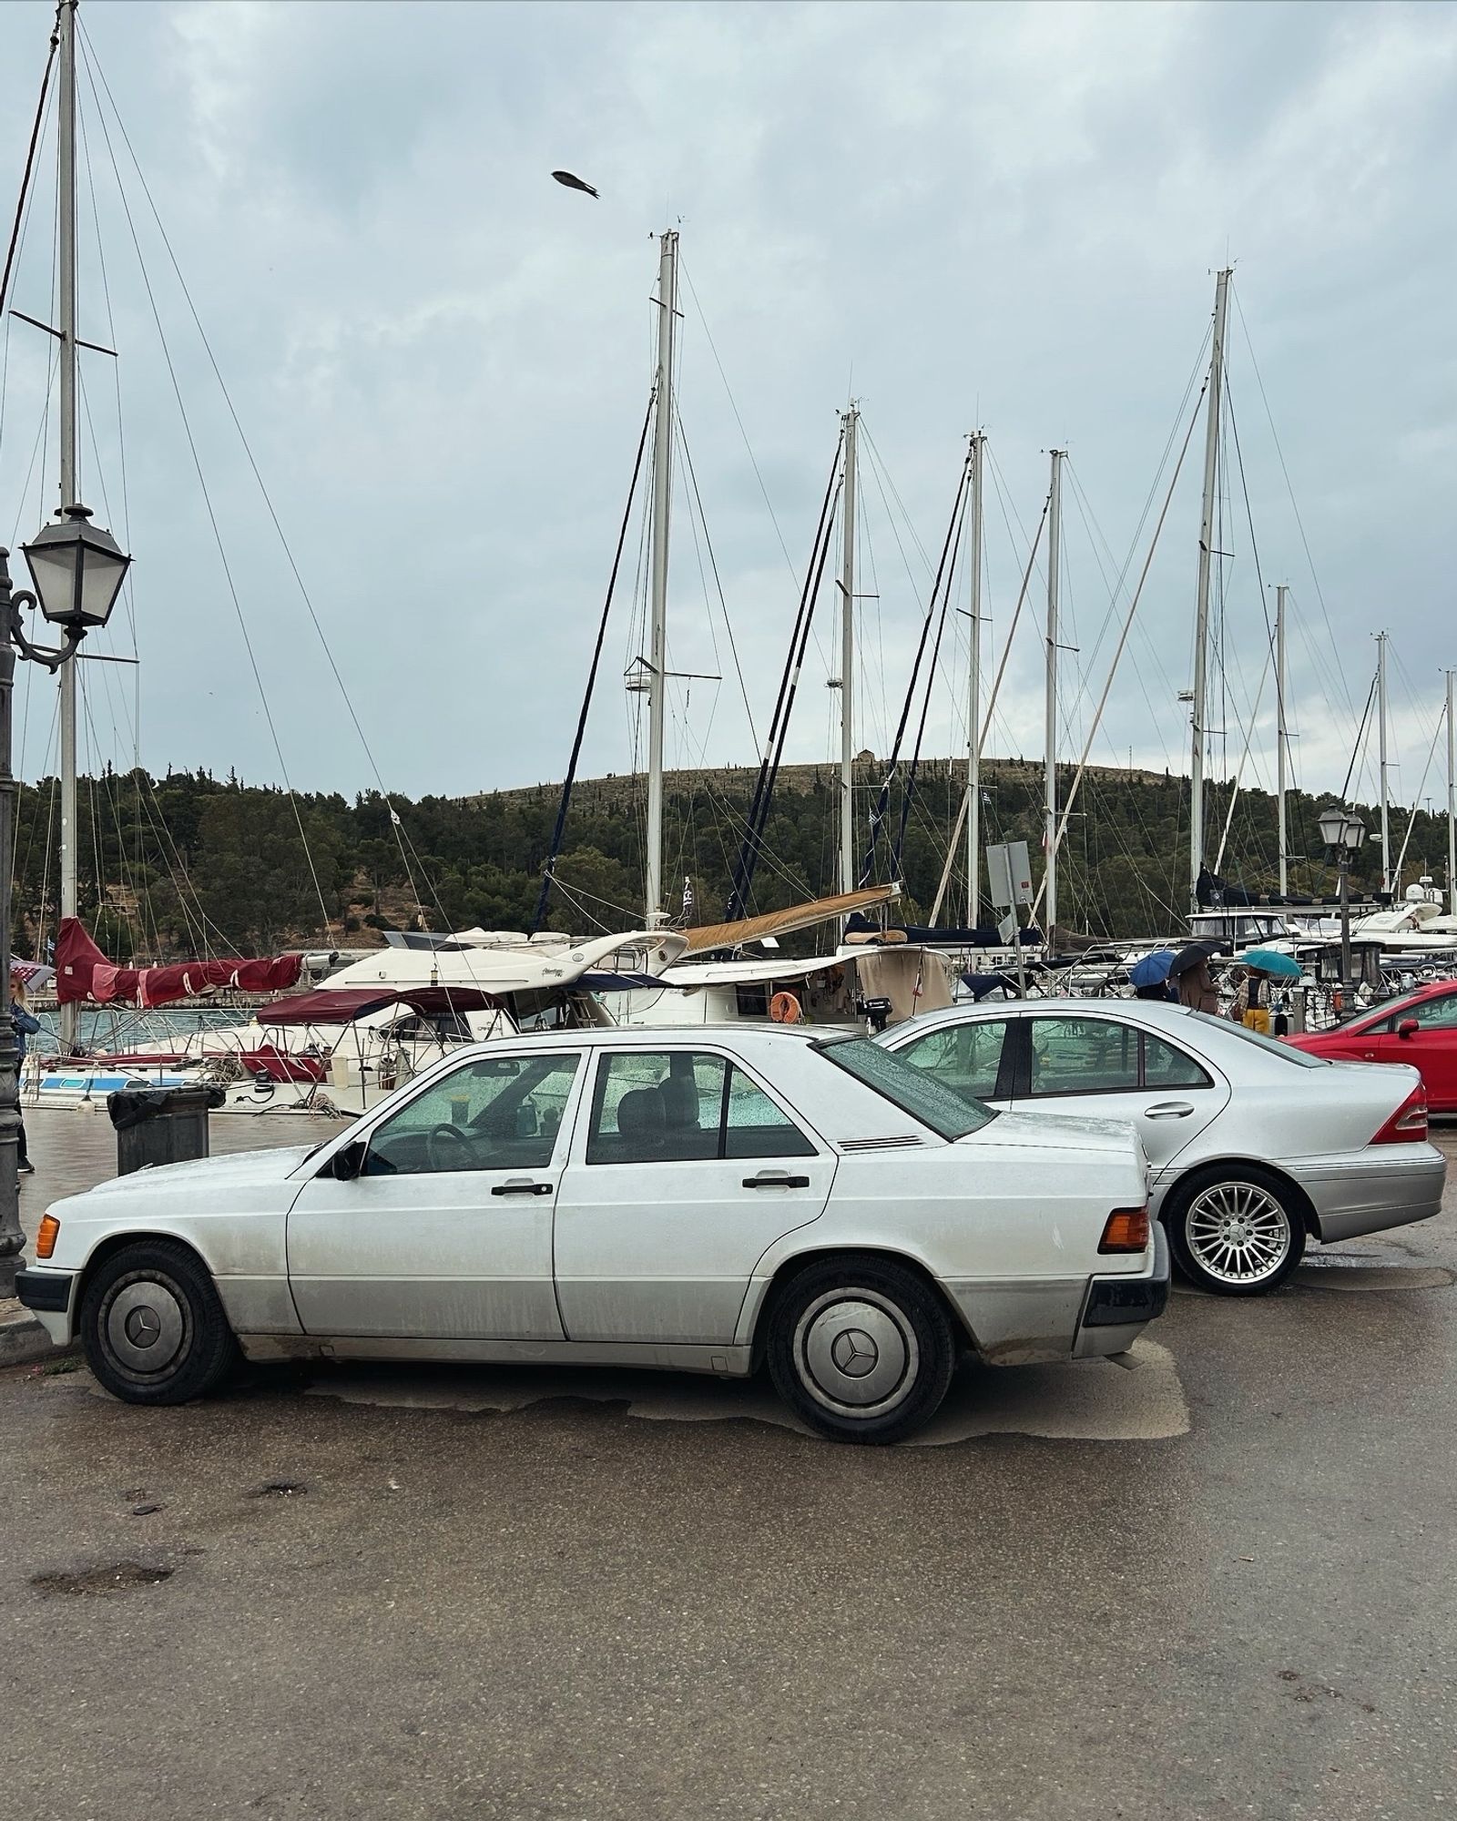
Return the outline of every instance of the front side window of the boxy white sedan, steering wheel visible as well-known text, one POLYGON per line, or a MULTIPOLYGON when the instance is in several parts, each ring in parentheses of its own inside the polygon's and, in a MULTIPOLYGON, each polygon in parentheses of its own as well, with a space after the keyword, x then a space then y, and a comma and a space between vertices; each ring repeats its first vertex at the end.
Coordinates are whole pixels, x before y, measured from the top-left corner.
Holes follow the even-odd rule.
POLYGON ((377 1125, 362 1175, 546 1169, 581 1054, 488 1056, 452 1069, 377 1125))

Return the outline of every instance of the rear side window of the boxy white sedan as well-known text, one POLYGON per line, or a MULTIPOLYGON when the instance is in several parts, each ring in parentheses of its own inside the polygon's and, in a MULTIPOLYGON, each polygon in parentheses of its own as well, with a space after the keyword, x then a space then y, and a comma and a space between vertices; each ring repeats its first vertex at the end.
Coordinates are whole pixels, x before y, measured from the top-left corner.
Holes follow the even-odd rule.
POLYGON ((597 1063, 588 1164, 812 1155, 800 1127, 725 1056, 621 1051, 597 1063))

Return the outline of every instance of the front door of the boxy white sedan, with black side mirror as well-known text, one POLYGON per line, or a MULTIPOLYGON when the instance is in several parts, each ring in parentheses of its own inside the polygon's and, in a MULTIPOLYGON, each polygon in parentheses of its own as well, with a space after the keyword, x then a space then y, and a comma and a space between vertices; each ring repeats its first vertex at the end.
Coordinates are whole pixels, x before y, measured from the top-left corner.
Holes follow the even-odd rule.
POLYGON ((561 1340, 552 1211, 581 1062, 475 1056, 370 1131, 353 1180, 310 1182, 288 1216, 304 1331, 561 1340))

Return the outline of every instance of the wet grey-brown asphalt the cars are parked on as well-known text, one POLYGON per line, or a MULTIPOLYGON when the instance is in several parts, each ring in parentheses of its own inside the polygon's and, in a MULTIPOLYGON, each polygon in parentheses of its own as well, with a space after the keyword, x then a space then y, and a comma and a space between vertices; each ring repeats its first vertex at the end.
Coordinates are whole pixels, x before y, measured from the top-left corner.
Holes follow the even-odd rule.
POLYGON ((889 1451, 656 1375, 0 1377, 0 1810, 1448 1812, 1448 1200, 889 1451))

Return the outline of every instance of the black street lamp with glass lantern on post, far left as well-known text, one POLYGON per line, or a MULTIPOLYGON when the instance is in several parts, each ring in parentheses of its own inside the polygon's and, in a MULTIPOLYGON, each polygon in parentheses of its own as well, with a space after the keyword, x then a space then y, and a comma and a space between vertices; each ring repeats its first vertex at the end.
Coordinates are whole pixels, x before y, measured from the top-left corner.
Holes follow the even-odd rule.
POLYGON ((129 555, 117 539, 89 524, 86 506, 67 506, 62 517, 24 544, 35 594, 11 594, 9 550, 0 550, 0 1297, 15 1295, 15 1269, 25 1249, 20 1229, 20 1178, 15 1153, 20 1138, 20 1082, 11 1020, 11 869, 15 865, 15 776, 11 772, 15 659, 60 670, 95 626, 104 626, 117 605, 129 555), (58 648, 25 637, 24 608, 38 606, 58 628, 58 648))

